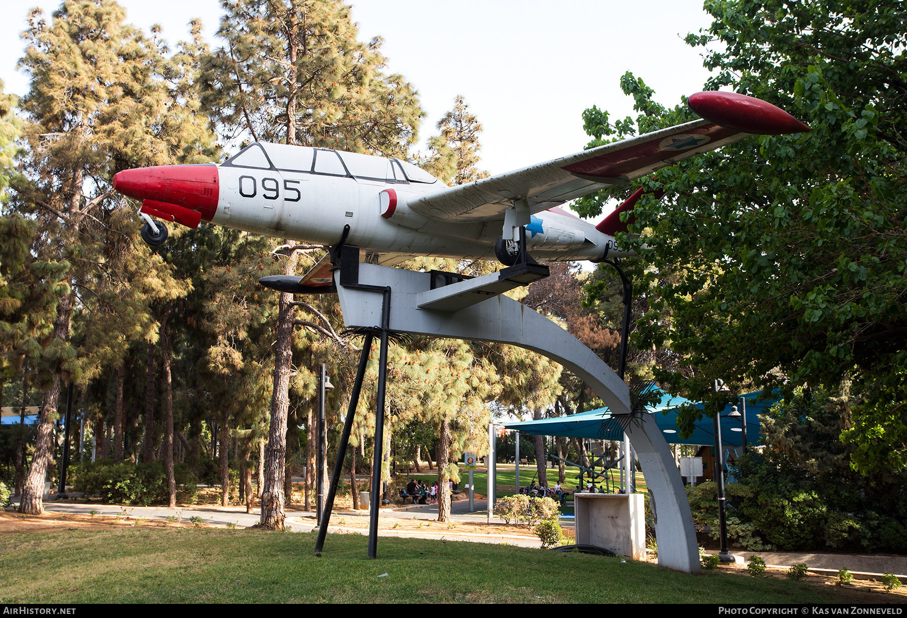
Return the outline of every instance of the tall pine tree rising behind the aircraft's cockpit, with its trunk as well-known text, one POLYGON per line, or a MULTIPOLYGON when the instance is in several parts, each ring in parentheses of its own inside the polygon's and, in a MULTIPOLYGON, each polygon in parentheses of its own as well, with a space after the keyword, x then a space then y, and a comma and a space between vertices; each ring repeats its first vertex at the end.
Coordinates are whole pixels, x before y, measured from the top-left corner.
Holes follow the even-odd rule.
MULTIPOLYGON (((382 72, 380 40, 368 45, 356 40, 346 5, 336 0, 225 0, 222 6, 226 15, 218 34, 227 44, 204 57, 201 88, 203 104, 225 135, 405 156, 423 111, 402 77, 382 72)), ((284 274, 297 273, 300 249, 309 247, 287 240, 275 254, 283 260, 284 274)), ((317 316, 329 313, 317 310, 325 303, 336 305, 336 299, 311 304, 289 294, 278 299, 260 522, 269 529, 283 528, 293 327, 317 331, 329 347, 342 343, 332 336, 327 317, 317 316), (297 308, 310 319, 297 319, 297 308)), ((303 339, 300 343, 313 345, 307 336, 303 339)))

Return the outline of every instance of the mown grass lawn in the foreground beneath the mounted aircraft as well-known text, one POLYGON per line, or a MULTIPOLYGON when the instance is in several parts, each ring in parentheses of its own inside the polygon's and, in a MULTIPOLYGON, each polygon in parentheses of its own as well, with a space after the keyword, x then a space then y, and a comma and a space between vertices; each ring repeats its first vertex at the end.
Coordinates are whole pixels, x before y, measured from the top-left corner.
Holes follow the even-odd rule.
MULTIPOLYGON (((515 546, 215 528, 0 535, 0 603, 834 603, 783 579, 684 575, 515 546), (382 577, 379 575, 387 574, 382 577)), ((827 586, 831 588, 831 586, 827 586)))

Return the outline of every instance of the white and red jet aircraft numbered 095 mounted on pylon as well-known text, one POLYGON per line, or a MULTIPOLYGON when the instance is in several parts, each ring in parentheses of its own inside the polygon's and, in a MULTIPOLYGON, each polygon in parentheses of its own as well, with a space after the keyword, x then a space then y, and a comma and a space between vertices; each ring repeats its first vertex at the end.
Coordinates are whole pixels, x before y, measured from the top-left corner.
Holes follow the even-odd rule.
MULTIPOLYGON (((735 92, 697 92, 688 105, 701 120, 456 187, 400 159, 256 142, 219 165, 124 170, 113 188, 142 200, 141 236, 151 245, 167 237, 158 217, 358 246, 361 261, 385 266, 413 256, 496 257, 512 266, 534 263, 530 251, 541 260, 596 262, 627 255, 614 235, 627 230, 620 213, 641 189, 597 226, 561 204, 750 135, 809 130, 775 105, 735 92)), ((330 268, 326 256, 286 291, 332 290, 330 268)))

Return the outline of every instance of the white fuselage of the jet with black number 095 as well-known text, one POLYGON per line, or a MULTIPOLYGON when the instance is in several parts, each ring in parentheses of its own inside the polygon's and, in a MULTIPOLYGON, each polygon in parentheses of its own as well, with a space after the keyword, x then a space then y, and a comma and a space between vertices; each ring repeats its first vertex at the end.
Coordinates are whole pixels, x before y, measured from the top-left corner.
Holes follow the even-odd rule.
MULTIPOLYGON (((409 199, 433 193, 444 185, 424 172, 422 178, 434 182, 410 181, 407 175, 414 176, 415 172, 407 167, 404 174, 406 163, 334 150, 260 146, 268 152, 267 161, 263 157, 256 160, 258 150, 250 151, 253 147, 249 147, 218 166, 219 200, 211 223, 324 245, 339 241, 348 225, 347 244, 379 253, 494 257, 494 242, 502 236, 502 220, 455 223, 412 212, 406 207, 409 199), (303 162, 288 162, 297 158, 303 162), (395 193, 396 199, 396 211, 387 218, 382 217, 381 201, 386 191, 395 193)), ((385 195, 385 206, 386 201, 385 195)), ((532 256, 540 260, 597 260, 608 246, 611 255, 622 255, 614 250, 613 237, 560 208, 532 215, 526 239, 532 256)))

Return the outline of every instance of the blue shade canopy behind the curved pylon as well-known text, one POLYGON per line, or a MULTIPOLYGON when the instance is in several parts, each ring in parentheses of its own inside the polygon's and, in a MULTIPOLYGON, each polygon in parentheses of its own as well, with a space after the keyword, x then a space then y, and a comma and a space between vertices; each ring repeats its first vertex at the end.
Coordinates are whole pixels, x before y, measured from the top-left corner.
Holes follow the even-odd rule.
MULTIPOLYGON (((757 414, 763 414, 766 408, 775 404, 776 400, 756 401, 762 391, 747 392, 741 397, 746 397, 746 442, 756 444, 761 438, 759 433, 759 420, 757 414)), ((654 407, 649 409, 652 417, 658 424, 658 429, 668 444, 715 444, 713 421, 703 418, 696 421, 696 429, 693 435, 687 439, 680 438, 680 430, 677 426, 678 408, 682 405, 690 405, 699 410, 703 409, 702 403, 689 401, 683 397, 673 397, 667 393, 663 394, 661 401, 658 401, 654 407)), ((726 446, 741 446, 740 419, 727 418, 730 414, 731 405, 721 411, 721 442, 726 446)), ((526 420, 524 422, 503 423, 503 426, 509 430, 520 430, 533 435, 541 436, 566 436, 568 438, 591 438, 591 439, 623 439, 623 430, 616 419, 611 418, 608 408, 599 408, 590 410, 581 414, 572 416, 561 416, 556 419, 526 420)))

